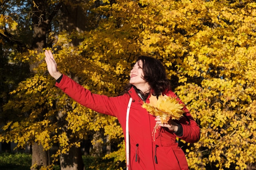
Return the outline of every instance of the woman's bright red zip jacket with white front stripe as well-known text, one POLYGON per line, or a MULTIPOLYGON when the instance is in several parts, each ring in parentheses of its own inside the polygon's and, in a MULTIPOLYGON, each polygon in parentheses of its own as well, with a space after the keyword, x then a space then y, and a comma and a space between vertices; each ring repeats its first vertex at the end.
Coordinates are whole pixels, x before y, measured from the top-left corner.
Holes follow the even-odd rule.
MULTIPOLYGON (((157 130, 154 141, 152 132, 156 124, 155 117, 141 107, 143 100, 134 88, 131 88, 124 95, 107 97, 106 95, 92 94, 66 75, 63 75, 61 82, 56 83, 56 86, 79 104, 98 113, 117 117, 124 131, 125 140, 126 110, 129 99, 132 97, 128 126, 130 137, 129 170, 188 170, 186 157, 176 142, 175 133, 161 128, 157 130), (137 161, 135 159, 136 154, 137 161)), ((172 91, 168 91, 166 95, 176 97, 172 91)), ((146 102, 149 102, 149 99, 146 99, 146 102)), ((183 128, 183 135, 180 139, 189 143, 197 142, 200 139, 200 128, 185 107, 184 110, 185 116, 176 121, 183 128)))

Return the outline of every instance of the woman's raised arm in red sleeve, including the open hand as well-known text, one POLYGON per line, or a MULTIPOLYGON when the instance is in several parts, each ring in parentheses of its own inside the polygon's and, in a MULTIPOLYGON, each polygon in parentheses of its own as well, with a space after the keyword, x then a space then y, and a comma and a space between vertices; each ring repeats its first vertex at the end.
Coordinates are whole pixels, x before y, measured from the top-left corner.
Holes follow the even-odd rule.
POLYGON ((126 109, 130 98, 129 95, 108 97, 106 95, 92 94, 91 91, 58 71, 57 64, 50 50, 45 50, 45 61, 49 74, 54 79, 57 80, 63 75, 60 82, 56 81, 56 86, 79 104, 96 112, 115 117, 119 113, 123 113, 122 110, 126 109))

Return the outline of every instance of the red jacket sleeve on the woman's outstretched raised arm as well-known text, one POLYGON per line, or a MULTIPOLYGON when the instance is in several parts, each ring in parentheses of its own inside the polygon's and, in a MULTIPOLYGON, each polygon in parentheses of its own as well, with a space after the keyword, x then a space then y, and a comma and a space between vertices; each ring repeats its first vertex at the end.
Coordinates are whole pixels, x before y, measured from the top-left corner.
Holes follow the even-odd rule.
POLYGON ((56 82, 55 85, 79 104, 98 113, 117 117, 119 110, 123 109, 122 107, 124 106, 124 96, 108 97, 106 95, 93 94, 66 75, 63 75, 61 81, 59 83, 56 82))

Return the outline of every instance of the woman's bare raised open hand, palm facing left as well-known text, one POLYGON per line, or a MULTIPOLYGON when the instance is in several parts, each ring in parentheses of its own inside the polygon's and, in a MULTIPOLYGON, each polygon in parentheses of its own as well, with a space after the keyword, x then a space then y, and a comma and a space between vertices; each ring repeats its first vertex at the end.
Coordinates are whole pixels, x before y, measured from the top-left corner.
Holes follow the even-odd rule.
POLYGON ((50 75, 54 77, 54 79, 61 77, 61 73, 58 72, 57 64, 50 50, 45 50, 45 61, 50 75))

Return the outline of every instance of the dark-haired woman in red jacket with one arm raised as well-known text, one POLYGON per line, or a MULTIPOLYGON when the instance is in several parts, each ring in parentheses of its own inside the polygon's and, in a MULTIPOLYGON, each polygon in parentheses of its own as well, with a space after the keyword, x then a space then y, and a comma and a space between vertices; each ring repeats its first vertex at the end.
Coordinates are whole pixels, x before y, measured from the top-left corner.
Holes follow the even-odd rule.
MULTIPOLYGON (((200 128, 184 107, 180 120, 162 124, 159 117, 142 108, 150 95, 176 97, 170 90, 162 63, 152 57, 141 56, 130 71, 130 84, 124 95, 107 97, 92 94, 57 70, 51 51, 45 51, 47 68, 56 79, 56 86, 76 102, 92 110, 117 117, 126 141, 127 170, 188 170, 186 157, 176 137, 194 143, 200 139, 200 128), (161 128, 153 137, 155 125, 161 128)), ((182 103, 180 101, 180 103, 182 103)))

